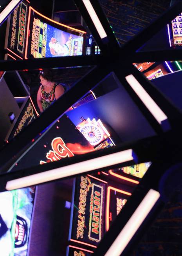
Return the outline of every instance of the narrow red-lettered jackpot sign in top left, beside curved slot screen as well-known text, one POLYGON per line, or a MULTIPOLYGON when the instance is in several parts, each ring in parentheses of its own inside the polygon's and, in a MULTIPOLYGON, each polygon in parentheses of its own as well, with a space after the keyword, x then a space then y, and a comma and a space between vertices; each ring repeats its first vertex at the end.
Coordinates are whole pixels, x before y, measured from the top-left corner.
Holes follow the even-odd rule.
MULTIPOLYGON (((27 14, 28 2, 22 1, 9 18, 9 35, 5 48, 13 51, 20 58, 24 58, 26 30, 27 30, 27 14)), ((8 27, 7 27, 8 31, 8 27)))

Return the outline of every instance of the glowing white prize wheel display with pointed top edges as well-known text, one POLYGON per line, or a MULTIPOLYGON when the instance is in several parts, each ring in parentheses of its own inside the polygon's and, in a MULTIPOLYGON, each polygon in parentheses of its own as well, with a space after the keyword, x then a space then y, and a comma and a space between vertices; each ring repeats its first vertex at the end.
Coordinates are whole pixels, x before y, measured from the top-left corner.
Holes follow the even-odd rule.
POLYGON ((87 120, 84 119, 76 127, 92 146, 97 146, 105 139, 110 138, 109 132, 106 130, 100 119, 98 119, 97 121, 95 118, 92 119, 92 121, 90 120, 90 118, 88 118, 87 120))

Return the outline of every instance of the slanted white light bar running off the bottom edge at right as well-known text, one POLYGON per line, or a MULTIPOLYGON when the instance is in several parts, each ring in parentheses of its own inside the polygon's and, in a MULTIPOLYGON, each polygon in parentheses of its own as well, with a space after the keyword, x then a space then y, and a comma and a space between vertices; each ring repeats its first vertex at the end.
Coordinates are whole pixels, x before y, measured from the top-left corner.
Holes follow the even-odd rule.
POLYGON ((153 208, 160 194, 156 190, 150 189, 144 199, 141 201, 131 218, 128 220, 124 228, 121 230, 114 243, 111 245, 105 256, 120 256, 132 239, 135 232, 153 208))

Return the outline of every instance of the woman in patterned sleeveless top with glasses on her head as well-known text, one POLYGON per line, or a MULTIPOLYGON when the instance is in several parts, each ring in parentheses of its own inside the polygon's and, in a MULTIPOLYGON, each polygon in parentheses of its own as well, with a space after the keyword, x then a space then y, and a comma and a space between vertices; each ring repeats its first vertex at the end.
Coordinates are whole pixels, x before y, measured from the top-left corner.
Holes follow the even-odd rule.
POLYGON ((65 92, 61 84, 53 80, 52 72, 48 69, 40 71, 41 86, 37 93, 37 104, 40 112, 43 112, 65 92))

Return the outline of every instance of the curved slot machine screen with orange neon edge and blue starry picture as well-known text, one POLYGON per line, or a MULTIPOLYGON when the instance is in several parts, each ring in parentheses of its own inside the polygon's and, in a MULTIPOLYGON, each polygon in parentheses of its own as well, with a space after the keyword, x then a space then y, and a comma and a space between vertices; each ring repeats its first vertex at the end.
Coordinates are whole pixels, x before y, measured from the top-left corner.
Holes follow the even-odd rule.
POLYGON ((83 54, 85 31, 68 27, 29 8, 25 59, 83 54))

